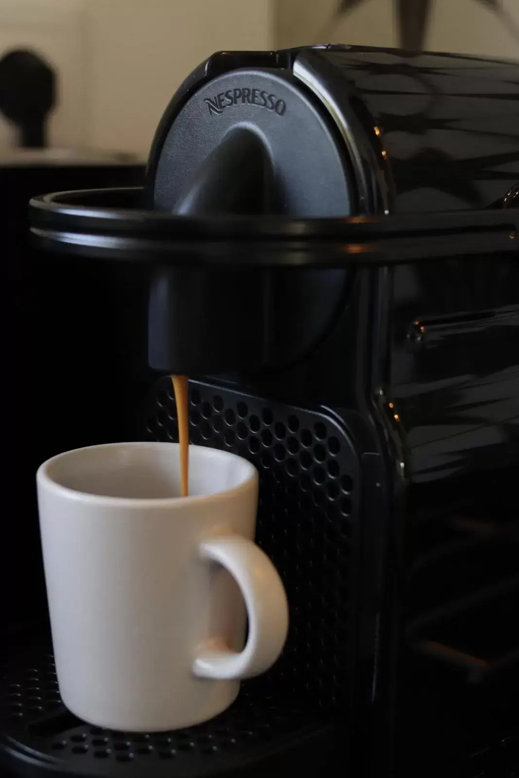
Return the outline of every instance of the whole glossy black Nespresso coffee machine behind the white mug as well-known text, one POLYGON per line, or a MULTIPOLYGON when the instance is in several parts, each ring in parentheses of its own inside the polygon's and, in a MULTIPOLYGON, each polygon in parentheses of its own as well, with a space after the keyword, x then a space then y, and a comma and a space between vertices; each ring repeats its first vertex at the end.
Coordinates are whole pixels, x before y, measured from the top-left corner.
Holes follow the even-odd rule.
POLYGON ((176 440, 168 375, 188 373, 191 442, 260 471, 291 622, 229 711, 136 736, 65 710, 27 619, 6 770, 517 773, 518 120, 510 62, 215 54, 144 189, 32 202, 50 448, 176 440))

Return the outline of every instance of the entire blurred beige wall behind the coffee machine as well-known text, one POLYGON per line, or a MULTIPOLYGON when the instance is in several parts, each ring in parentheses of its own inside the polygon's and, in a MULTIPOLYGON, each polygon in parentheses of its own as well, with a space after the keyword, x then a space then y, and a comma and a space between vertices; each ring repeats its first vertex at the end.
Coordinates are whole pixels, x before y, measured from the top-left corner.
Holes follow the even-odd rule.
MULTIPOLYGON (((432 0, 426 47, 519 58, 519 0, 432 0), (515 34, 514 34, 515 31, 515 34)), ((0 0, 0 56, 25 45, 58 68, 52 145, 146 156, 186 75, 213 51, 343 42, 395 46, 394 0, 0 0)), ((12 142, 0 117, 0 147, 12 142)))

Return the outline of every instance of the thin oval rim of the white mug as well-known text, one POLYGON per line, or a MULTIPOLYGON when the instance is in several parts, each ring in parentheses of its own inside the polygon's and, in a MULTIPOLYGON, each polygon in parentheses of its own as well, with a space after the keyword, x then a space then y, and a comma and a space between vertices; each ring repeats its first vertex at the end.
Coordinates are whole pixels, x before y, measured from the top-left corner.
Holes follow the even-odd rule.
POLYGON ((179 443, 164 443, 158 440, 128 440, 118 443, 96 443, 93 446, 83 446, 79 448, 73 448, 68 451, 61 451, 60 454, 54 454, 54 457, 50 457, 46 461, 40 464, 37 469, 36 480, 38 487, 44 487, 55 495, 66 497, 80 503, 89 503, 91 505, 109 505, 112 507, 135 507, 142 509, 146 508, 165 508, 174 506, 188 506, 196 503, 203 503, 204 501, 216 499, 228 499, 230 496, 240 493, 249 488, 251 483, 258 482, 258 470, 254 467, 250 461, 244 457, 240 457, 238 454, 233 454, 232 451, 223 451, 218 448, 212 448, 210 446, 198 446, 190 443, 190 448, 202 451, 204 454, 210 453, 213 456, 223 457, 225 459, 239 460, 242 466, 246 468, 246 474, 243 480, 231 489, 223 489, 220 492, 212 492, 212 494, 202 495, 189 495, 187 497, 114 497, 110 495, 93 494, 92 492, 82 492, 79 489, 72 489, 69 486, 64 486, 58 481, 54 480, 49 474, 49 469, 60 460, 67 459, 74 454, 79 454, 82 451, 93 450, 106 450, 117 448, 148 448, 148 449, 165 449, 179 448, 179 443))

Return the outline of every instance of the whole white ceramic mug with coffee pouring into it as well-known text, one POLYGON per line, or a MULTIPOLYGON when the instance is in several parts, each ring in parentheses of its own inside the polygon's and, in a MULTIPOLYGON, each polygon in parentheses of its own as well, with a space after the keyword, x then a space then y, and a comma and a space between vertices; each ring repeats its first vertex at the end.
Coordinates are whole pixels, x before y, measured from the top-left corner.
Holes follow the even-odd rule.
POLYGON ((288 607, 252 540, 252 464, 191 446, 181 498, 176 444, 114 443, 53 457, 37 489, 56 671, 72 713, 117 730, 187 727, 275 662, 288 607))

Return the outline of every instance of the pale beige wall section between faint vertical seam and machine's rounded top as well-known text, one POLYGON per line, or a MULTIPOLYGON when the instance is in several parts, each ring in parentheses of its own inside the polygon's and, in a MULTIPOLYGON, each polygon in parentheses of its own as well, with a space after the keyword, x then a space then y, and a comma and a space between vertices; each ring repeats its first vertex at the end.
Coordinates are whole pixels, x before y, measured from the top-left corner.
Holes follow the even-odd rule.
POLYGON ((85 10, 89 145, 100 149, 147 154, 196 65, 213 51, 272 46, 270 0, 86 0, 85 10))

